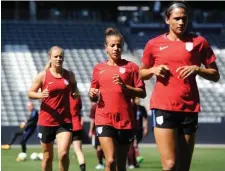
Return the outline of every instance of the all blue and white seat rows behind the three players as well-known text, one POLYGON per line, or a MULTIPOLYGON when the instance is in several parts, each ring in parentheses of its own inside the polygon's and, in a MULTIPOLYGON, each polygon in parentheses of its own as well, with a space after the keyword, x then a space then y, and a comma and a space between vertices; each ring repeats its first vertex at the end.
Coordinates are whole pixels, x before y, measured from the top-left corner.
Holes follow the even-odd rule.
MULTIPOLYGON (((64 67, 72 70, 78 82, 83 101, 83 115, 88 120, 90 86, 94 65, 107 58, 104 51, 104 30, 115 26, 113 23, 79 23, 79 22, 25 22, 2 21, 1 44, 1 112, 2 125, 18 125, 27 118, 26 92, 35 75, 48 61, 48 50, 53 45, 61 46, 65 53, 64 67)), ((164 32, 153 29, 148 32, 128 32, 125 41, 130 51, 124 56, 132 57, 140 63, 146 42, 164 32)), ((201 115, 225 116, 225 38, 219 33, 203 35, 212 45, 217 55, 221 80, 211 83, 197 77, 199 84, 202 113, 201 115)), ((147 90, 152 90, 155 80, 147 82, 147 90)), ((148 98, 144 105, 148 107, 148 98)), ((40 101, 34 101, 39 108, 40 101)))

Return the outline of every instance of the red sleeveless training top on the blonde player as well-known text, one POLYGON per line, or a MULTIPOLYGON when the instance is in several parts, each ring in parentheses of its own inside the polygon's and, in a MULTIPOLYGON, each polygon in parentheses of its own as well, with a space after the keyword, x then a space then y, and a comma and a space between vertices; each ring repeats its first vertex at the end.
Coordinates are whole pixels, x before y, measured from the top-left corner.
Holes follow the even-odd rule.
POLYGON ((41 126, 58 126, 71 123, 69 106, 69 72, 64 69, 62 78, 55 78, 50 70, 46 71, 42 91, 49 90, 49 97, 43 98, 38 124, 41 126))

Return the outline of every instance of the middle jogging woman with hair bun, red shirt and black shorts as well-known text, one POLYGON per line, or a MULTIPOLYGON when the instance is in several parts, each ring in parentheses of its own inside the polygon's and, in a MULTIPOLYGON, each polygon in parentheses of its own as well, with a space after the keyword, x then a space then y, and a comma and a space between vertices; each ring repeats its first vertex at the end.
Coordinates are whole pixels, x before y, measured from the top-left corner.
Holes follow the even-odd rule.
POLYGON ((121 59, 124 39, 113 28, 105 31, 108 60, 94 67, 90 98, 99 96, 95 114, 96 134, 105 155, 105 171, 125 171, 127 153, 133 141, 134 114, 131 98, 145 97, 138 66, 121 59))

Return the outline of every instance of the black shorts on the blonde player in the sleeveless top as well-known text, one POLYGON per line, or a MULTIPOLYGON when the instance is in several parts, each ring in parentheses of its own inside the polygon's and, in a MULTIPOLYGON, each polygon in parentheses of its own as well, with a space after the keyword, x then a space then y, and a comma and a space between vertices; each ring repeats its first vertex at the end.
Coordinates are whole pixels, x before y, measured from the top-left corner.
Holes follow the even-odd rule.
POLYGON ((43 143, 51 143, 60 132, 72 132, 72 124, 67 123, 59 126, 41 126, 39 125, 38 137, 43 143))

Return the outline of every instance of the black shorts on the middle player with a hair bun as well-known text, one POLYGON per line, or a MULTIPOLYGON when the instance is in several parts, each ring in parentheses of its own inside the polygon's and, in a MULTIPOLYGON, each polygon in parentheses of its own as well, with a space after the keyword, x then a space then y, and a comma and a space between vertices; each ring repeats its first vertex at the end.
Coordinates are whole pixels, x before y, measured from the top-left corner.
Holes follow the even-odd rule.
POLYGON ((132 129, 116 129, 112 126, 96 126, 96 135, 98 137, 115 138, 119 145, 129 145, 134 140, 132 129))

